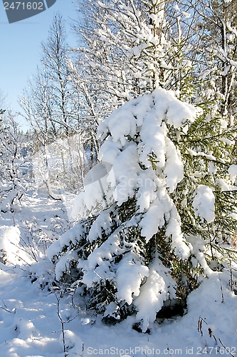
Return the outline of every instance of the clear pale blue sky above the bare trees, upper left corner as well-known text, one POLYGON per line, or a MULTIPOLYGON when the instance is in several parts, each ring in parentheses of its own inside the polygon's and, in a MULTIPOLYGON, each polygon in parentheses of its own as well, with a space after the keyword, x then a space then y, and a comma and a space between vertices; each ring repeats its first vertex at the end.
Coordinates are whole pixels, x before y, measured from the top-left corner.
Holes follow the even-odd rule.
MULTIPOLYGON (((27 80, 36 73, 42 53, 41 42, 48 37, 53 15, 60 12, 69 23, 76 16, 76 4, 76 0, 57 0, 41 14, 9 24, 0 0, 0 90, 6 94, 6 104, 13 111, 20 110, 18 98, 26 88, 27 80)), ((70 32, 69 24, 67 30, 70 32)), ((70 34, 69 44, 75 45, 75 41, 75 36, 70 34)), ((23 121, 21 123, 25 126, 23 121)))

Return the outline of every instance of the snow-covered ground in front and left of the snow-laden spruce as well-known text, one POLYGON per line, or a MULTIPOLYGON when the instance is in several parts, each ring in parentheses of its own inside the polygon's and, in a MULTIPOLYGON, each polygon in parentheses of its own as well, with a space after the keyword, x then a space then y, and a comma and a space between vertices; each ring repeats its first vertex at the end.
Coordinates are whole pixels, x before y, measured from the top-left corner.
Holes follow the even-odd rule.
POLYGON ((1 214, 1 243, 8 234, 14 241, 9 246, 15 249, 20 231, 23 244, 20 247, 28 251, 23 256, 23 251, 15 249, 17 266, 11 263, 14 249, 10 263, 0 263, 1 357, 59 357, 67 353, 68 356, 236 356, 237 296, 231 291, 227 272, 213 272, 190 294, 186 315, 155 321, 150 333, 133 330, 132 316, 115 326, 105 325, 99 316, 86 311, 85 303, 77 296, 73 301, 78 308, 73 308, 70 296, 58 300, 57 290, 50 286, 42 290, 43 272, 51 273, 44 250, 70 227, 67 211, 70 197, 67 201, 65 204, 46 198, 45 194, 28 194, 23 198, 21 211, 14 216, 1 214), (38 239, 41 251, 33 250, 32 238, 38 239), (63 351, 62 322, 66 351, 63 351))

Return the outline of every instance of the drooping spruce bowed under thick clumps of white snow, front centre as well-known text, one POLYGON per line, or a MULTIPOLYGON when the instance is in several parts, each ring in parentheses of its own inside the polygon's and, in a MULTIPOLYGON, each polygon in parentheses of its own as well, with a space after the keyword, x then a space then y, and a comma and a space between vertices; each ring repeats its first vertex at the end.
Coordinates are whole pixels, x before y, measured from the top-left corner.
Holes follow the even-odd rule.
POLYGON ((192 249, 171 196, 184 165, 169 127, 187 129, 195 116, 164 89, 117 109, 99 127, 105 142, 91 176, 102 178, 101 165, 110 170, 85 186, 75 203, 79 222, 48 248, 58 281, 85 288, 90 308, 104 316, 119 321, 136 311, 143 331, 177 297, 173 266, 192 249))

